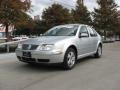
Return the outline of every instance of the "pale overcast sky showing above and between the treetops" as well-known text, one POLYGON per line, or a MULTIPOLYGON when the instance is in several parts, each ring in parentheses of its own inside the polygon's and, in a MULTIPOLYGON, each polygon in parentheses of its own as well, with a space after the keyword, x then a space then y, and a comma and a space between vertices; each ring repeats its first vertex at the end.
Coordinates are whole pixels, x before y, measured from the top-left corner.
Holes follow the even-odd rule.
MULTIPOLYGON (((66 8, 74 8, 76 0, 31 0, 32 1, 32 12, 31 15, 40 15, 42 11, 48 6, 52 5, 54 2, 62 4, 66 8)), ((120 6, 120 0, 115 0, 120 6)), ((89 11, 93 11, 94 7, 97 7, 96 0, 84 0, 85 5, 88 7, 89 11)))

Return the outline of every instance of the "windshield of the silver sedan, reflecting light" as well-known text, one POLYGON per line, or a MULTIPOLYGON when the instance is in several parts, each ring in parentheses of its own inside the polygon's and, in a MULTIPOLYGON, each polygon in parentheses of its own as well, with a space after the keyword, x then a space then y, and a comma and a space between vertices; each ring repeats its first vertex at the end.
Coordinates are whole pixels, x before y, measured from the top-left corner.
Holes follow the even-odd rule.
POLYGON ((48 30, 44 36, 75 36, 78 25, 57 26, 48 30))

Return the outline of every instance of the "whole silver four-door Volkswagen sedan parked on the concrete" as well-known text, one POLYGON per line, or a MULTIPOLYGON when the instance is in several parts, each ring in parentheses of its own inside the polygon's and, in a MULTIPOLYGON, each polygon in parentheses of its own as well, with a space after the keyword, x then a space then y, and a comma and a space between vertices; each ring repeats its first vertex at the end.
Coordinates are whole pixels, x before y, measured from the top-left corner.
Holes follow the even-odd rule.
POLYGON ((101 57, 102 39, 88 25, 60 25, 38 38, 18 44, 16 55, 22 62, 62 63, 65 69, 72 69, 80 58, 101 57))

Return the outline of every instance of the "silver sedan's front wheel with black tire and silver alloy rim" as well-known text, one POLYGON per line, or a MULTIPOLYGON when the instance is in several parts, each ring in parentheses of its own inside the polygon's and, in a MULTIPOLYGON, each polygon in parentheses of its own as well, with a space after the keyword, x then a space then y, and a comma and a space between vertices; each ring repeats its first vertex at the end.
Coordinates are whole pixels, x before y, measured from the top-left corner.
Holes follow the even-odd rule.
POLYGON ((77 60, 77 54, 75 50, 73 48, 69 48, 64 56, 64 62, 63 62, 64 69, 71 70, 75 66, 76 60, 77 60))

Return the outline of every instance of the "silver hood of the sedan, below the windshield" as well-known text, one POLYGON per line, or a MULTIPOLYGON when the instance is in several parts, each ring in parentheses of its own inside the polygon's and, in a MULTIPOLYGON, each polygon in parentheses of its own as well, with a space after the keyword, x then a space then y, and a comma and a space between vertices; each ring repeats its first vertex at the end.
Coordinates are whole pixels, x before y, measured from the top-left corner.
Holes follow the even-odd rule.
POLYGON ((61 40, 69 39, 72 36, 41 36, 34 39, 29 39, 23 42, 23 44, 55 44, 61 40))

